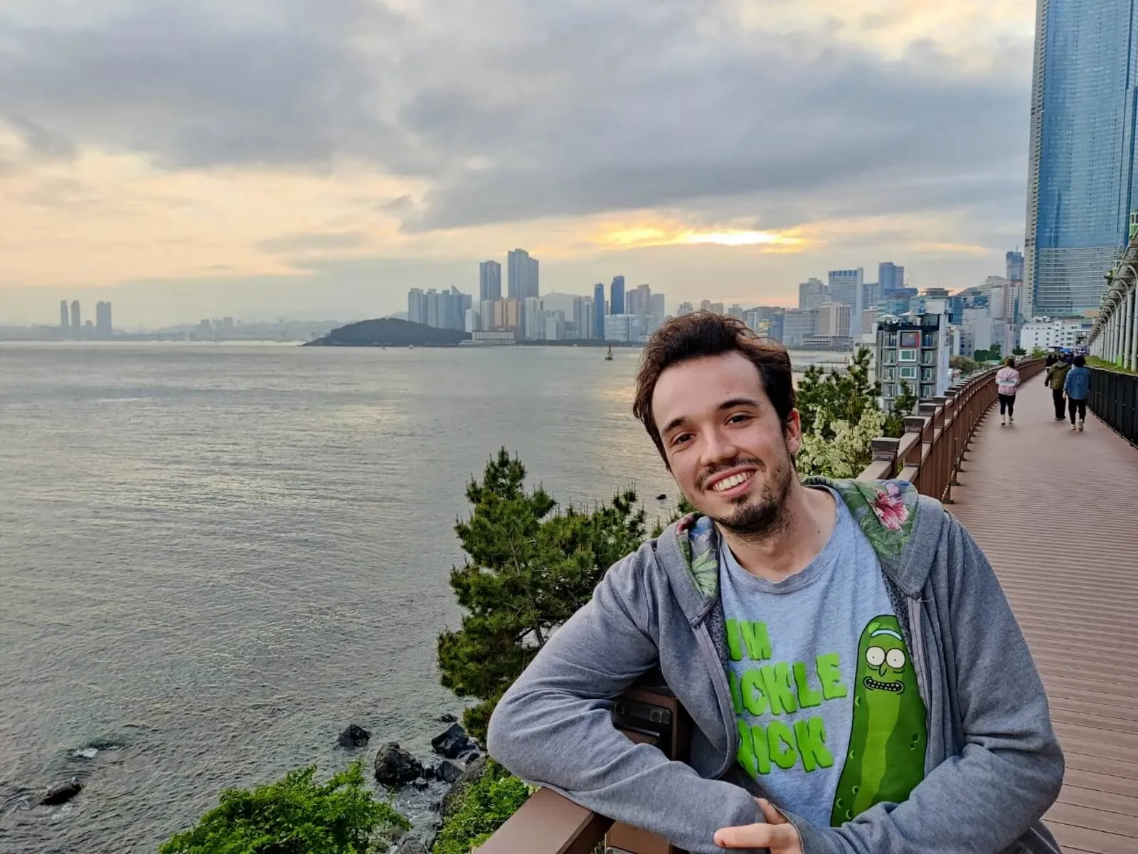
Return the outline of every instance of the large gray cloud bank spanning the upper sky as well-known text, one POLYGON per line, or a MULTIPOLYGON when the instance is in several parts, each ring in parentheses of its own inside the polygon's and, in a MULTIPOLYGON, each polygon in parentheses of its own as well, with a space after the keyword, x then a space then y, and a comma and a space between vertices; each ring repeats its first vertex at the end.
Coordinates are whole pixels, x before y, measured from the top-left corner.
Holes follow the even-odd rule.
POLYGON ((0 116, 52 156, 363 157, 432 188, 420 210, 380 203, 411 231, 641 207, 767 228, 1022 215, 1030 44, 980 76, 931 44, 887 61, 825 33, 747 33, 728 6, 127 0, 83 27, 0 22, 0 116))

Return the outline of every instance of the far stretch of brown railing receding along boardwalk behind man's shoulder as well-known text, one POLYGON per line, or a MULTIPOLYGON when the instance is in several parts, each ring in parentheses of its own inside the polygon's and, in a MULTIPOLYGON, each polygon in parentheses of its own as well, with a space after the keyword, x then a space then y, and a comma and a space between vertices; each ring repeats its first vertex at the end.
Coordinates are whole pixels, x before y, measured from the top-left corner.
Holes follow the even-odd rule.
MULTIPOLYGON (((1042 359, 1019 363, 1026 381, 1044 369, 1042 359)), ((921 401, 917 414, 905 418, 905 435, 873 440, 873 462, 859 481, 908 481, 923 495, 953 503, 956 475, 972 437, 996 402, 996 371, 989 368, 954 385, 943 396, 921 401)))

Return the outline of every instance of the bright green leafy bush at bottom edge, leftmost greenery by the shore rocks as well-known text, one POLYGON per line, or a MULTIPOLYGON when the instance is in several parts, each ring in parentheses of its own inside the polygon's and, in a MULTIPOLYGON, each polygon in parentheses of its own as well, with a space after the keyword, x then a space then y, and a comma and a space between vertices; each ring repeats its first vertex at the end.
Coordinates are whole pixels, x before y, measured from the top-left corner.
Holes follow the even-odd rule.
POLYGON ((315 766, 255 789, 226 789, 197 826, 175 834, 158 854, 365 854, 374 836, 411 823, 372 797, 354 763, 328 782, 315 766))

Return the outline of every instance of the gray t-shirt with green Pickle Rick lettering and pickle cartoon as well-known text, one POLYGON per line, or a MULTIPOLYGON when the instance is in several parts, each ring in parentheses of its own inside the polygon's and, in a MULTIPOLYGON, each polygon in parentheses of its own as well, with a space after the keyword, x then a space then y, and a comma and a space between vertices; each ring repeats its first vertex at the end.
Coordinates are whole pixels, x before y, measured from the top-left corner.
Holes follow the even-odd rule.
POLYGON ((739 763, 819 827, 899 803, 924 777, 925 708, 877 555, 836 493, 838 522, 774 583, 724 544, 719 584, 739 763))

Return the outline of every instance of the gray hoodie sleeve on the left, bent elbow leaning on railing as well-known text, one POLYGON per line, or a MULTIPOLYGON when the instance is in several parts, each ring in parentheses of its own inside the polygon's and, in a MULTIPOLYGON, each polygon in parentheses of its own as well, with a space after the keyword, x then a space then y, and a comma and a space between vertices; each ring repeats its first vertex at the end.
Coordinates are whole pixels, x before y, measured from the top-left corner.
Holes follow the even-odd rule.
POLYGON ((530 783, 692 854, 712 854, 723 851, 716 830, 762 821, 754 798, 633 744, 609 716, 611 699, 659 660, 646 577, 654 560, 644 549, 609 569, 506 691, 487 750, 530 783))

